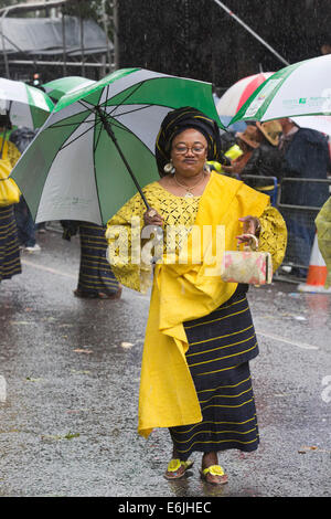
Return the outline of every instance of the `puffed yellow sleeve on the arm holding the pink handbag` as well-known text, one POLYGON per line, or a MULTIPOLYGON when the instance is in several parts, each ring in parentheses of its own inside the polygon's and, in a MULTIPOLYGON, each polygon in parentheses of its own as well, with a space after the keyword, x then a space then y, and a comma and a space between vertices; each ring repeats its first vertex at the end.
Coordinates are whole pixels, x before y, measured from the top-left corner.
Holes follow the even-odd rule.
POLYGON ((268 205, 259 216, 259 251, 269 252, 273 258, 274 273, 281 265, 287 246, 287 229, 280 212, 268 205))

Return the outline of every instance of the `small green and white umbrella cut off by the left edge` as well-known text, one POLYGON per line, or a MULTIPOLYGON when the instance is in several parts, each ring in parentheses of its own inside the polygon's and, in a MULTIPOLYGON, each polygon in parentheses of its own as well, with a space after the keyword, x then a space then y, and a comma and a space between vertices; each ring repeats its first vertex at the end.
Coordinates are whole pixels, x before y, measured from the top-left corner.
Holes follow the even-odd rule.
POLYGON ((33 129, 40 128, 54 108, 44 92, 3 77, 0 77, 0 106, 9 114, 12 125, 33 129))

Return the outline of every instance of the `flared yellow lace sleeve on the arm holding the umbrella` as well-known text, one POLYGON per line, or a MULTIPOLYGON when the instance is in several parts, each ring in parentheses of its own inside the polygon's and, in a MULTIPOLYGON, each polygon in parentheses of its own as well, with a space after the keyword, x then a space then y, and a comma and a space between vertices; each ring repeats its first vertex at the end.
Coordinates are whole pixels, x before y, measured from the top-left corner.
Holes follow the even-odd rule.
POLYGON ((141 229, 146 205, 135 194, 107 223, 107 260, 119 283, 145 294, 151 286, 152 265, 139 258, 135 262, 135 245, 140 251, 141 229))

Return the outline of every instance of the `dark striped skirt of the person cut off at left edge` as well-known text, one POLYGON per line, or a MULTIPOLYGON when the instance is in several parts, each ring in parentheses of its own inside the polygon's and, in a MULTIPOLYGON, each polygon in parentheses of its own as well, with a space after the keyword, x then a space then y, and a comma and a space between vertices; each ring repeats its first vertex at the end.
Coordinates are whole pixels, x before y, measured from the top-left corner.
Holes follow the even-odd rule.
POLYGON ((21 260, 13 205, 0 208, 0 282, 21 274, 21 260))

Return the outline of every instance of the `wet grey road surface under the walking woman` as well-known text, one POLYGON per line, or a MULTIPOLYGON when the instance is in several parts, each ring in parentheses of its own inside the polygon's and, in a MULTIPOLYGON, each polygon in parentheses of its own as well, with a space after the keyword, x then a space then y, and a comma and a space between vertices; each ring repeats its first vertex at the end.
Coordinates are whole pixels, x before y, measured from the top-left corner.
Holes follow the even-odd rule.
POLYGON ((199 454, 169 483, 168 431, 137 435, 149 297, 77 299, 78 239, 49 230, 39 243, 0 285, 0 496, 330 497, 330 295, 249 290, 260 446, 220 454, 224 487, 201 481, 199 454))

